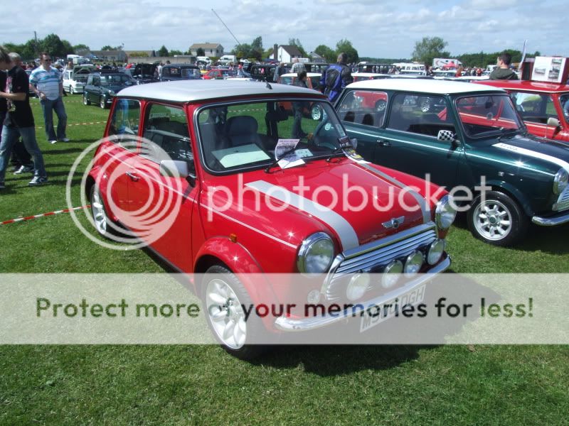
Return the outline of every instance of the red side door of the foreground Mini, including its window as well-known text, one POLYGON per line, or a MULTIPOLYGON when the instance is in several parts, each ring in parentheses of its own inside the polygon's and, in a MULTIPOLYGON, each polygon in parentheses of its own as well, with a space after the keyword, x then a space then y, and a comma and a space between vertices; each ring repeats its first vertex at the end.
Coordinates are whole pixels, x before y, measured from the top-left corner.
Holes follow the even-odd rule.
POLYGON ((149 104, 144 116, 140 152, 129 180, 132 212, 140 219, 134 231, 176 268, 191 271, 191 216, 198 187, 186 177, 160 172, 164 161, 176 160, 195 173, 186 112, 149 104))

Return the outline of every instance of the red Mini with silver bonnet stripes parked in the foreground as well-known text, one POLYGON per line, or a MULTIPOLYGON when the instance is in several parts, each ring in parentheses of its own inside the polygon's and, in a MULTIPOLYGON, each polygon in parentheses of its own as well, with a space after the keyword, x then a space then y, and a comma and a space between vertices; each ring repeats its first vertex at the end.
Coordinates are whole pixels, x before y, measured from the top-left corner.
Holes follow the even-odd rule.
POLYGON ((134 234, 177 271, 205 274, 193 285, 208 324, 225 349, 245 358, 260 351, 250 344, 257 334, 316 329, 353 309, 252 321, 243 305, 378 305, 450 266, 445 236, 455 212, 447 192, 366 163, 354 144, 314 90, 240 81, 138 85, 115 98, 85 192, 100 234, 134 234), (279 114, 282 101, 316 103, 324 117, 295 122, 279 114), (267 273, 310 280, 298 288, 294 280, 250 278, 267 273), (383 278, 370 282, 372 273, 383 278))

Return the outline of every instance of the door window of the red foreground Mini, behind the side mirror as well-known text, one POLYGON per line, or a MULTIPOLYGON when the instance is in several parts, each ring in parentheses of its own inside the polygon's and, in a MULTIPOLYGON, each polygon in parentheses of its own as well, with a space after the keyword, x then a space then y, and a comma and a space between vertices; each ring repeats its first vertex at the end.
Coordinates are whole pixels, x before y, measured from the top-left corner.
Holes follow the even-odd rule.
POLYGON ((186 111, 168 105, 147 108, 141 155, 160 163, 162 160, 188 161, 193 169, 186 111))

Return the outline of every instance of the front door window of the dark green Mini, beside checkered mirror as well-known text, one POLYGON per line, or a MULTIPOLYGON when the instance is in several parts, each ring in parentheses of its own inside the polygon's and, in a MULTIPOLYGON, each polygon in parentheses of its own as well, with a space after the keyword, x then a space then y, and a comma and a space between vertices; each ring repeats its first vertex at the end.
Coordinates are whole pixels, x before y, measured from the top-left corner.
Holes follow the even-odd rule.
POLYGON ((432 94, 396 94, 391 102, 388 129, 437 137, 439 131, 456 132, 447 114, 445 98, 432 94))

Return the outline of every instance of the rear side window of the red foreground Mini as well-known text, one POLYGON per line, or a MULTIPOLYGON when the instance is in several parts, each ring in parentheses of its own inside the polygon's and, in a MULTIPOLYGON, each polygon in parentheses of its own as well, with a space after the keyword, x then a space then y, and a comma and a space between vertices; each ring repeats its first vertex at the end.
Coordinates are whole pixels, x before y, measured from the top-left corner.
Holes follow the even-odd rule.
POLYGON ((109 126, 109 136, 117 143, 134 151, 140 123, 140 103, 134 99, 118 99, 109 126))

